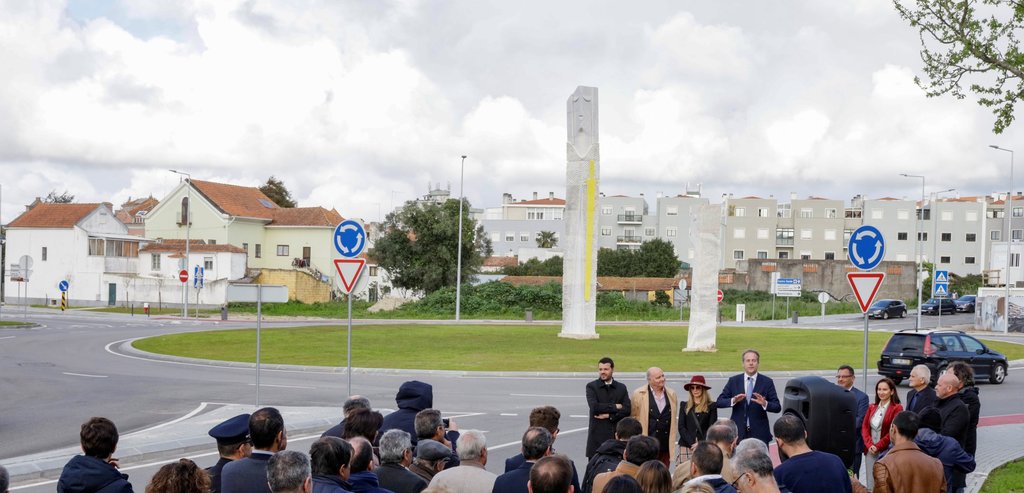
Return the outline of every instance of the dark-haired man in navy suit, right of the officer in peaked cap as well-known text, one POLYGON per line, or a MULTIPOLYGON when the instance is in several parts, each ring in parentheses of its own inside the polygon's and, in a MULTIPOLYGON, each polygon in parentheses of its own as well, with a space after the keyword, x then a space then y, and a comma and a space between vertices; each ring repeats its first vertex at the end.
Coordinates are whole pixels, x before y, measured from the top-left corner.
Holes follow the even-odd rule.
POLYGON ((221 470, 222 493, 270 493, 266 483, 266 463, 273 454, 288 448, 285 418, 272 408, 257 410, 249 417, 252 455, 224 465, 221 470))

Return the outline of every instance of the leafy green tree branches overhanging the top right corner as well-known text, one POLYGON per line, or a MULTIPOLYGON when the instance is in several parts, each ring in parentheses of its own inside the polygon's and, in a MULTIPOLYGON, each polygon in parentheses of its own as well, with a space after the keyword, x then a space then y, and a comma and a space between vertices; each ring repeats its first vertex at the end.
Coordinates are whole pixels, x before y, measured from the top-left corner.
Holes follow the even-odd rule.
POLYGON ((913 0, 896 10, 921 38, 921 58, 928 81, 914 78, 929 97, 966 97, 965 87, 992 109, 992 131, 1002 133, 1014 121, 1014 106, 1024 96, 1024 53, 1018 34, 1024 27, 1019 0, 913 0))

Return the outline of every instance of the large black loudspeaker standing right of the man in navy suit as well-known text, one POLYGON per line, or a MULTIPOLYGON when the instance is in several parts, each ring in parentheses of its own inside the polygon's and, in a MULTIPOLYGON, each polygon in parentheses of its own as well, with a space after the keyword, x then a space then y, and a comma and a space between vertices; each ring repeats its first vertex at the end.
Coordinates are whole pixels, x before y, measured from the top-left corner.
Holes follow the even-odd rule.
POLYGON ((782 413, 799 416, 807 427, 807 445, 838 455, 847 468, 853 465, 860 427, 857 398, 853 393, 821 378, 802 376, 785 382, 782 413))

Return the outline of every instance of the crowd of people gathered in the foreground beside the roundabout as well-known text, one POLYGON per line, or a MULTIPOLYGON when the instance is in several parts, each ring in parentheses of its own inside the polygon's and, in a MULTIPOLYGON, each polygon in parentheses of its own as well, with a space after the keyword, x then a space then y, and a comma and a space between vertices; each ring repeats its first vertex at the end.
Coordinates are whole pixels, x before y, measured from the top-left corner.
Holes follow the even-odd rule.
MULTIPOLYGON (((813 450, 799 413, 768 413, 782 406, 770 377, 759 373, 761 356, 742 354, 742 373, 728 379, 718 399, 701 375, 683 385, 685 400, 650 368, 632 393, 614 379, 614 362, 598 362, 598 378, 586 385, 589 407, 587 466, 555 451, 561 413, 535 408, 520 453, 503 474, 487 470, 487 441, 476 429, 459 430, 434 409, 429 383, 407 381, 387 416, 368 399, 350 397, 343 419, 313 442, 308 453, 288 448, 282 414, 272 407, 231 417, 210 429, 219 460, 200 468, 182 458, 160 467, 146 493, 762 493, 762 492, 957 492, 974 470, 978 389, 967 364, 953 363, 934 388, 931 371, 913 368, 911 389, 900 399, 882 378, 873 400, 854 385, 853 368, 841 366, 836 383, 853 395, 859 433, 840 444, 844 462, 813 450), (729 417, 719 410, 730 409, 729 417), (769 444, 782 459, 773 465, 769 444), (841 448, 843 448, 841 447, 841 448), (861 458, 864 475, 860 478, 861 458), (852 460, 851 460, 852 459, 852 460), (581 481, 582 480, 582 481, 581 481), (863 481, 861 481, 863 480, 863 481)), ((81 426, 82 454, 57 482, 58 493, 129 493, 118 467, 115 424, 93 417, 81 426)), ((0 466, 0 493, 9 478, 0 466)))

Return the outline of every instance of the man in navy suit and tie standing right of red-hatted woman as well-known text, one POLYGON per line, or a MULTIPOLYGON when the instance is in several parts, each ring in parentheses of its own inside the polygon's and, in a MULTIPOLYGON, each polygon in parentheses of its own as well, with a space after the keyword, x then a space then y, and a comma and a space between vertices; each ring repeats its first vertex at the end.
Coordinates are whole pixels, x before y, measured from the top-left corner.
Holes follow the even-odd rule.
POLYGON ((754 437, 764 443, 771 442, 768 413, 782 410, 775 394, 775 382, 758 373, 761 354, 755 350, 743 352, 743 373, 729 377, 716 405, 732 408, 732 420, 739 430, 739 440, 754 437))

